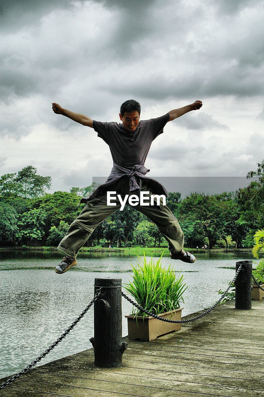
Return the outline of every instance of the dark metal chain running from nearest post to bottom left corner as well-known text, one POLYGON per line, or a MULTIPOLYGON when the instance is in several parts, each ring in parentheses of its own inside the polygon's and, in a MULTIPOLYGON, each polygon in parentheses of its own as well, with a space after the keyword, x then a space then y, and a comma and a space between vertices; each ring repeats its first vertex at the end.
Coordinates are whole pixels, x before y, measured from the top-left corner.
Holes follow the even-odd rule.
POLYGON ((75 321, 73 321, 73 323, 69 326, 69 328, 62 333, 62 335, 48 348, 44 351, 44 353, 42 353, 39 357, 36 358, 36 360, 32 361, 31 364, 29 364, 28 366, 26 366, 26 368, 24 368, 21 372, 18 372, 17 374, 15 374, 14 376, 12 376, 12 378, 8 379, 6 382, 2 383, 2 385, 0 385, 0 389, 4 389, 4 387, 12 384, 12 382, 14 382, 15 380, 17 380, 18 378, 20 378, 23 374, 25 374, 28 370, 30 370, 34 365, 37 364, 37 362, 39 362, 42 358, 44 358, 48 353, 50 353, 50 351, 52 349, 54 349, 55 346, 58 345, 58 343, 60 343, 62 341, 63 338, 66 337, 66 335, 73 329, 73 327, 75 327, 75 325, 81 320, 81 318, 83 318, 83 316, 87 313, 87 311, 91 308, 91 306, 94 304, 94 302, 96 301, 96 299, 98 298, 98 296, 100 295, 101 292, 101 288, 100 289, 96 289, 96 293, 93 297, 93 299, 91 300, 91 302, 89 303, 88 306, 86 306, 86 308, 83 310, 83 312, 81 312, 81 314, 79 315, 78 318, 76 318, 75 321))

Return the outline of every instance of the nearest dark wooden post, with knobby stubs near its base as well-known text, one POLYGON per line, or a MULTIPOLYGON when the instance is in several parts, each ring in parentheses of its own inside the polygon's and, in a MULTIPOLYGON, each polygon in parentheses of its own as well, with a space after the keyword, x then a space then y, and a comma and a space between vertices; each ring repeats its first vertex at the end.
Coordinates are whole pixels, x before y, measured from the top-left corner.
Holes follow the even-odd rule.
POLYGON ((94 279, 94 293, 98 287, 100 296, 94 302, 94 365, 101 368, 119 367, 127 342, 122 337, 121 279, 94 279), (98 287, 96 287, 96 285, 98 287))

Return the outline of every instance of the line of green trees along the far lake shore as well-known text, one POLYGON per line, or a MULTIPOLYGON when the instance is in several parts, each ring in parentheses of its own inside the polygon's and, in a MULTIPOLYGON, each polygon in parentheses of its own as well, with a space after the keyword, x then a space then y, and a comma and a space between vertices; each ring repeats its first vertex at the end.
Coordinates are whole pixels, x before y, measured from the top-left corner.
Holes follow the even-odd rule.
MULTIPOLYGON (((210 248, 235 246, 252 247, 253 235, 264 227, 264 162, 247 174, 254 178, 244 189, 208 195, 192 192, 181 199, 179 192, 170 192, 167 206, 179 220, 185 235, 185 246, 210 248)), ((37 174, 27 166, 17 173, 0 177, 0 244, 56 246, 69 225, 85 204, 80 198, 92 193, 96 183, 69 192, 46 193, 50 176, 37 174)), ((166 246, 155 224, 125 206, 102 222, 87 241, 87 245, 116 247, 166 246)))

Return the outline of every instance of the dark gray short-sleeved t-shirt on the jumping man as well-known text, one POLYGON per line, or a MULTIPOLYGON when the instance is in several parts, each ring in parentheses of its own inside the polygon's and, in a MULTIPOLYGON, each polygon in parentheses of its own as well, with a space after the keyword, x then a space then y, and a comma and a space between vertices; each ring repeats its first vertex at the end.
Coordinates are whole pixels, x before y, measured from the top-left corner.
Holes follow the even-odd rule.
POLYGON ((108 145, 113 162, 122 167, 133 168, 136 164, 144 165, 152 141, 163 133, 163 128, 168 123, 170 115, 156 119, 141 120, 135 131, 130 132, 123 123, 101 123, 93 121, 94 130, 98 137, 108 145))

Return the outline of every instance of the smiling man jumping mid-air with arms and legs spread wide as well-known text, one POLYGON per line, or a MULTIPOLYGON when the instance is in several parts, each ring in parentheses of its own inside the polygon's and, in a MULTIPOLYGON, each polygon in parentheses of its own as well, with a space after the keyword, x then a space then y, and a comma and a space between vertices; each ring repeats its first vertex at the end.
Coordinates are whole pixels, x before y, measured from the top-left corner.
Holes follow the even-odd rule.
MULTIPOLYGON (((89 239, 92 232, 103 220, 120 209, 120 202, 107 205, 107 191, 115 191, 124 199, 125 195, 149 192, 146 195, 166 195, 165 187, 152 178, 146 177, 149 172, 145 168, 145 160, 152 141, 163 133, 163 128, 168 123, 191 110, 200 109, 202 102, 195 101, 191 105, 174 109, 164 116, 150 120, 139 120, 141 106, 139 102, 131 99, 125 101, 120 108, 119 118, 122 123, 101 123, 91 118, 71 112, 62 108, 57 103, 52 104, 56 114, 62 114, 77 123, 91 127, 109 146, 112 158, 112 171, 103 185, 100 185, 89 197, 82 198, 86 206, 70 225, 65 237, 58 246, 64 253, 64 258, 55 272, 62 274, 76 265, 79 249, 89 239)), ((146 215, 157 225, 160 233, 169 243, 170 257, 183 262, 195 262, 195 256, 183 250, 184 236, 179 223, 166 205, 154 202, 153 205, 136 206, 137 210, 146 215)))

